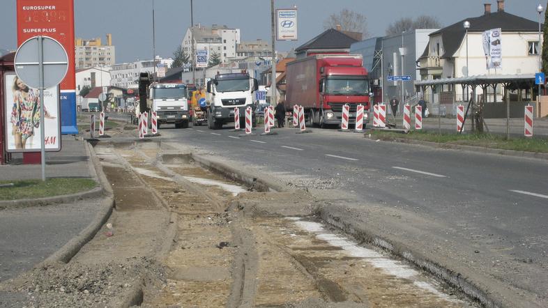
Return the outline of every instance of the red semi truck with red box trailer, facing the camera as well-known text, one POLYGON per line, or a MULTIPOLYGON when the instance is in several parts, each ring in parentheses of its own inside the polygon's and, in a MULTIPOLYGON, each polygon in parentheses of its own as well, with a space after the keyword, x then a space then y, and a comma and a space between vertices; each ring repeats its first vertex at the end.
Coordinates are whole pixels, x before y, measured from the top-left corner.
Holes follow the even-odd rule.
POLYGON ((350 107, 349 123, 356 122, 357 106, 364 106, 369 121, 370 86, 362 56, 317 54, 287 63, 285 108, 303 106, 308 125, 340 125, 342 106, 350 107))

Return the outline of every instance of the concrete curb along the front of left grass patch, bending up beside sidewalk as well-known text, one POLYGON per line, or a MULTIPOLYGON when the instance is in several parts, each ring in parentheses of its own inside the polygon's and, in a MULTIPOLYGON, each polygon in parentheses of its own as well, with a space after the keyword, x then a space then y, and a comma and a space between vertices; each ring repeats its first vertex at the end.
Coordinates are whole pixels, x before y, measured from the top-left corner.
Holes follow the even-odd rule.
MULTIPOLYGON (((93 178, 99 183, 100 185, 99 187, 95 187, 92 190, 88 190, 87 192, 77 192, 75 194, 63 194, 61 196, 55 196, 55 197, 44 197, 44 198, 36 198, 36 199, 1 200, 0 208, 26 208, 30 206, 47 206, 55 203, 70 203, 80 199, 91 199, 91 198, 101 197, 105 193, 105 185, 101 185, 101 183, 98 180, 96 167, 94 167, 93 162, 91 162, 91 151, 89 150, 88 146, 86 146, 86 144, 84 144, 84 146, 86 148, 86 153, 89 157, 89 160, 88 160, 88 167, 90 171, 89 174, 91 175, 91 178, 93 178)), ((109 185, 107 185, 107 187, 109 187, 109 185)))

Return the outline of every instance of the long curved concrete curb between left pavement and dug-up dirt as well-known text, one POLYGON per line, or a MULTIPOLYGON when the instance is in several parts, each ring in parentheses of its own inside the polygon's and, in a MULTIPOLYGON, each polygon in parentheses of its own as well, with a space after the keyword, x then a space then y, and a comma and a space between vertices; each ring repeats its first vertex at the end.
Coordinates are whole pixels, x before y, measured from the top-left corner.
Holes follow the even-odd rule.
POLYGON ((77 254, 79 250, 82 249, 82 247, 96 235, 102 225, 107 222, 112 214, 112 209, 114 208, 114 193, 110 187, 107 177, 105 176, 105 173, 102 171, 97 155, 93 151, 93 148, 89 147, 91 147, 91 145, 86 143, 86 149, 89 151, 88 153, 90 155, 90 162, 93 164, 99 183, 102 186, 102 190, 105 190, 106 192, 106 197, 105 199, 102 199, 96 217, 93 218, 86 229, 78 233, 74 238, 63 245, 61 249, 47 257, 47 259, 36 265, 36 267, 45 266, 50 263, 68 263, 70 259, 72 259, 73 256, 75 256, 75 254, 77 254))

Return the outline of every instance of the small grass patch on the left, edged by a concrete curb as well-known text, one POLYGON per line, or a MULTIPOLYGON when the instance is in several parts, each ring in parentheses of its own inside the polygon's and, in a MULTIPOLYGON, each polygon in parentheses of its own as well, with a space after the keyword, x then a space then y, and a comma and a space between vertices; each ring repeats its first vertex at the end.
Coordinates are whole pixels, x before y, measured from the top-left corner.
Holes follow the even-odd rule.
POLYGON ((0 200, 35 199, 85 192, 97 187, 89 178, 47 178, 42 180, 1 180, 0 200), (10 185, 13 184, 13 185, 10 185))

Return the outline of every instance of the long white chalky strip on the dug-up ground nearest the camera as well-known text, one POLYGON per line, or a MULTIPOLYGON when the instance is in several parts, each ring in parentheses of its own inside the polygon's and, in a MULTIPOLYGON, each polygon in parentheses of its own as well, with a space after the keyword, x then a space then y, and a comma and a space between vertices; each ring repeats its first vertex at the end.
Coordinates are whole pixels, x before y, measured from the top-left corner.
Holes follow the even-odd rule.
POLYGON ((413 268, 410 268, 408 265, 402 261, 395 261, 385 258, 383 255, 378 252, 367 249, 365 247, 359 246, 353 240, 349 240, 343 236, 338 236, 333 233, 325 233, 324 227, 317 222, 306 222, 301 221, 297 217, 289 217, 289 220, 293 220, 297 226, 300 226, 301 229, 305 231, 316 233, 316 238, 319 240, 325 240, 329 245, 334 247, 340 247, 344 252, 347 252, 350 256, 355 256, 358 258, 363 258, 364 261, 370 263, 376 268, 381 268, 388 275, 393 275, 402 279, 409 279, 413 281, 413 284, 418 288, 422 288, 425 291, 434 293, 441 298, 446 300, 455 301, 452 298, 449 298, 448 295, 438 291, 432 284, 429 282, 423 282, 420 279, 420 273, 413 268))

